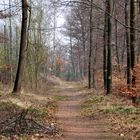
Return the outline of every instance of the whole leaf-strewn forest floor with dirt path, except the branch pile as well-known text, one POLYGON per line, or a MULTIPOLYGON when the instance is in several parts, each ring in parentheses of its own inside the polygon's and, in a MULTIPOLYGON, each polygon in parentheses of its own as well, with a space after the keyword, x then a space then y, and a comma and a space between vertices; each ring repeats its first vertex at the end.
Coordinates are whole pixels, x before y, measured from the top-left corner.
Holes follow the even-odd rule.
POLYGON ((0 140, 140 140, 140 108, 81 83, 59 81, 45 94, 1 95, 0 120, 16 115, 19 106, 29 108, 27 117, 37 123, 55 126, 55 134, 0 135, 0 140))

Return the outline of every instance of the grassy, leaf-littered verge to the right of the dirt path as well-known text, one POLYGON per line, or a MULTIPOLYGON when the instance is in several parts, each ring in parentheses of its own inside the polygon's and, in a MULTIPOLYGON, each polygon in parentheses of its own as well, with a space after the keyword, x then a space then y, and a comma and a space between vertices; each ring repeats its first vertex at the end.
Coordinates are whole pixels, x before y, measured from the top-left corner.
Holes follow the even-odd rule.
POLYGON ((81 114, 85 117, 107 119, 115 133, 140 139, 140 108, 127 105, 116 96, 90 95, 81 104, 81 114))

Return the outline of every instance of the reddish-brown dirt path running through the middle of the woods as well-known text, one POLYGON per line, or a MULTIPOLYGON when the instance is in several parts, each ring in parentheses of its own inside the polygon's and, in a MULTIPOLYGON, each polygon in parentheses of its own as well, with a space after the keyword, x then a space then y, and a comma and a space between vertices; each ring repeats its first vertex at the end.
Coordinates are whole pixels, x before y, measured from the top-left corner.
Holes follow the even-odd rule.
POLYGON ((121 140, 109 132, 102 120, 90 120, 80 115, 80 104, 84 100, 84 91, 78 91, 74 85, 63 85, 60 96, 68 96, 59 101, 56 113, 57 121, 63 130, 60 140, 121 140))

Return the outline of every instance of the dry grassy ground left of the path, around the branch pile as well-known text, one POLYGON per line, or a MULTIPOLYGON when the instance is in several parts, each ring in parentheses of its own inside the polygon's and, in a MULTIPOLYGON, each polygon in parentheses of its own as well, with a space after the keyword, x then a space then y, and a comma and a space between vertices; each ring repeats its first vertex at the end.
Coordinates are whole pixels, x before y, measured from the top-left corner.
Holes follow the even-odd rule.
MULTIPOLYGON (((22 93, 20 95, 6 94, 0 97, 0 120, 16 116, 22 109, 28 109, 29 116, 35 121, 43 124, 55 124, 53 114, 56 110, 56 102, 52 98, 32 93, 22 93)), ((20 135, 20 136, 0 136, 1 140, 31 140, 40 139, 43 134, 20 135)), ((47 136, 45 136, 47 137, 47 136)), ((49 139, 49 138, 48 138, 49 139)))

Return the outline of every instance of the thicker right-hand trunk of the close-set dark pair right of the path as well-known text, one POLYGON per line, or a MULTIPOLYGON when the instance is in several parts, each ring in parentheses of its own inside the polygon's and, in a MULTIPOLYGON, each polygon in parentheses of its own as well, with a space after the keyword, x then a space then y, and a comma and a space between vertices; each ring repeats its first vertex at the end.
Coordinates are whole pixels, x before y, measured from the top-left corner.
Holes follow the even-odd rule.
POLYGON ((112 22, 111 22, 111 1, 106 0, 106 12, 107 12, 107 91, 106 94, 111 93, 112 90, 112 22))

